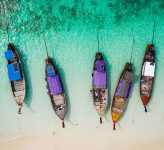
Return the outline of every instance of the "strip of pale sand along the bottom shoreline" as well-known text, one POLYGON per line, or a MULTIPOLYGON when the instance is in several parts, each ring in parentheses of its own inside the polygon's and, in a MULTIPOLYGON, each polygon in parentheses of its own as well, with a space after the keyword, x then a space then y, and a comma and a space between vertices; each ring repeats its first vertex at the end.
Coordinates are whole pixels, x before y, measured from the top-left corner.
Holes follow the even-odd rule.
POLYGON ((0 144, 1 150, 163 150, 163 147, 163 139, 147 142, 137 139, 135 141, 121 141, 120 139, 110 141, 109 137, 95 138, 92 135, 69 137, 67 139, 63 139, 60 135, 58 137, 50 135, 22 137, 0 144))

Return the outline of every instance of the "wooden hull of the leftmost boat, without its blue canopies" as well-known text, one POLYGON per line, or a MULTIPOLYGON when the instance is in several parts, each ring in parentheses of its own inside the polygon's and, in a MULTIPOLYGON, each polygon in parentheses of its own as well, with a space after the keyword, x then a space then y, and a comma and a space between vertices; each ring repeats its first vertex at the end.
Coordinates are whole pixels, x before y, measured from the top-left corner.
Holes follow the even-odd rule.
POLYGON ((20 57, 18 55, 18 52, 17 52, 14 44, 9 43, 7 50, 12 50, 12 52, 15 56, 15 58, 12 61, 7 60, 7 64, 9 65, 12 63, 19 63, 19 66, 20 66, 21 79, 16 80, 16 81, 10 81, 9 80, 14 99, 15 99, 18 107, 19 107, 18 113, 20 114, 21 108, 23 106, 23 101, 25 99, 25 93, 26 93, 26 83, 25 83, 25 78, 24 78, 23 67, 22 67, 20 57))

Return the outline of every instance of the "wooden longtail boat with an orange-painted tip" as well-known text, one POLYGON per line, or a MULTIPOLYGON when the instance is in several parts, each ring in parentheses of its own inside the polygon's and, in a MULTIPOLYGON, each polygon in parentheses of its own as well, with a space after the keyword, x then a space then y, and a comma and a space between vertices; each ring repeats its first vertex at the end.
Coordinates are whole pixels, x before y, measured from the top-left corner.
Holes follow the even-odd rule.
POLYGON ((127 107, 128 98, 131 92, 133 80, 134 80, 134 74, 133 74, 132 64, 126 63, 124 70, 121 73, 112 101, 111 116, 113 120, 114 130, 115 130, 115 123, 121 118, 127 107))

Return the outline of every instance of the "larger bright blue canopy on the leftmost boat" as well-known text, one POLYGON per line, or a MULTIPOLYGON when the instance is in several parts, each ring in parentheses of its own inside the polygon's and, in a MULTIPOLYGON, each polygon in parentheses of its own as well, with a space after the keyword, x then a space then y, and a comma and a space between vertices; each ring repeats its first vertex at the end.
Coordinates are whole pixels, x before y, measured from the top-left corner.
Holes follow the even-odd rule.
POLYGON ((21 79, 20 65, 18 62, 8 64, 7 69, 10 81, 16 81, 21 79))

